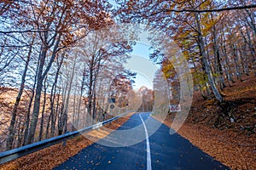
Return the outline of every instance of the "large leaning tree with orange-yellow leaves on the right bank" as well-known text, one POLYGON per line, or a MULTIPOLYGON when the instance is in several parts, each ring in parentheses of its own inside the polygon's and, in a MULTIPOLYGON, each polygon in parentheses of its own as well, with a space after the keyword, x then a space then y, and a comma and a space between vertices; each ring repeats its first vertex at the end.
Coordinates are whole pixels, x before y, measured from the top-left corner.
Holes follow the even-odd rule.
MULTIPOLYGON (((221 14, 219 12, 223 11, 231 14, 233 10, 238 9, 240 9, 239 11, 249 11, 255 8, 255 5, 251 1, 247 3, 229 4, 229 7, 224 7, 221 2, 216 1, 183 1, 180 3, 167 1, 148 1, 147 3, 123 1, 119 4, 122 6, 119 8, 118 14, 123 20, 130 22, 143 20, 156 29, 166 31, 167 35, 177 41, 179 47, 183 49, 184 54, 189 54, 193 58, 195 57, 193 55, 197 51, 196 54, 199 55, 197 60, 201 64, 201 70, 205 73, 205 77, 202 80, 207 80, 207 87, 211 89, 215 99, 223 102, 222 93, 216 84, 216 80, 219 80, 221 82, 221 88, 224 88, 223 68, 220 62, 221 54, 220 48, 218 48, 218 30, 216 27, 218 20, 221 20, 221 14), (213 13, 215 18, 213 17, 213 13), (176 25, 176 23, 178 24, 176 25), (212 40, 209 37, 211 31, 212 40), (210 42, 213 43, 211 44, 210 42), (193 44, 196 46, 193 47, 193 44), (198 49, 195 50, 195 47, 198 49), (191 51, 192 55, 190 54, 191 51), (215 58, 213 60, 216 61, 215 69, 212 66, 213 57, 211 51, 213 51, 215 58)), ((250 17, 247 18, 249 19, 250 17)), ((232 47, 234 46, 232 45, 232 47)), ((232 55, 237 56, 236 53, 232 55)), ((195 60, 191 59, 190 61, 194 62, 195 60)), ((234 59, 234 61, 236 60, 239 60, 239 57, 234 59)), ((234 68, 237 71, 239 70, 238 65, 235 65, 234 68)))

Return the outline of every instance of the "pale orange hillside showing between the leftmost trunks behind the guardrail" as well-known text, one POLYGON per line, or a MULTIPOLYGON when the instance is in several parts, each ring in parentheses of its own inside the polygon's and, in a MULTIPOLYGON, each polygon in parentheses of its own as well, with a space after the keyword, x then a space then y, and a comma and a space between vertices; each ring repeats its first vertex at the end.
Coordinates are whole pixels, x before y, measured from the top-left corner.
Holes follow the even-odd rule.
MULTIPOLYGON (((12 117, 12 111, 15 105, 15 100, 17 97, 17 94, 19 93, 18 88, 5 88, 5 87, 0 87, 0 152, 5 151, 6 148, 6 139, 8 137, 9 133, 9 123, 12 117)), ((25 127, 25 122, 26 122, 26 114, 28 111, 29 103, 30 103, 30 96, 31 96, 31 91, 29 90, 24 90, 22 97, 20 99, 20 104, 17 109, 17 116, 16 116, 16 124, 17 128, 16 131, 21 131, 20 129, 25 127)), ((41 99, 41 106, 44 103, 44 99, 41 99)), ((47 94, 47 101, 45 103, 45 112, 44 112, 44 117, 45 120, 49 116, 49 94, 47 94)), ((43 107, 41 107, 43 109, 43 107)), ((42 110, 40 110, 42 111, 42 110)), ((38 124, 41 119, 41 114, 38 117, 38 124)), ((44 127, 47 126, 47 121, 44 121, 44 127)), ((36 129, 35 133, 35 141, 38 141, 38 134, 39 134, 39 127, 36 129)), ((71 129, 68 129, 71 131, 71 129)), ((23 130, 24 133, 24 130, 23 130)), ((23 135, 23 133, 20 133, 20 137, 23 135)), ((17 134, 17 133, 16 133, 17 134)), ((43 139, 44 139, 44 134, 43 133, 43 139)), ((56 135, 56 133, 55 133, 56 135)), ((15 136, 15 139, 18 139, 18 134, 15 136)), ((22 137, 21 137, 22 138, 22 137)), ((17 140, 14 142, 14 147, 20 147, 18 145, 17 140)))

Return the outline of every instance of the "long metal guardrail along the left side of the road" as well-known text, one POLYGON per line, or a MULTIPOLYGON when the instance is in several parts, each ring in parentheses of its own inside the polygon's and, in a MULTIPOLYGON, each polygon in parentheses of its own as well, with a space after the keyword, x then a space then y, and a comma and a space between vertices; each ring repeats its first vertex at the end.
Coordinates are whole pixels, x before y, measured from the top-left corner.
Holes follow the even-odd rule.
POLYGON ((78 131, 61 134, 60 136, 56 136, 56 137, 50 138, 50 139, 44 139, 40 142, 36 142, 36 143, 33 143, 33 144, 27 144, 25 146, 22 146, 20 148, 16 148, 14 150, 4 151, 4 152, 0 153, 0 164, 3 164, 3 163, 8 162, 8 161, 13 161, 13 160, 15 160, 15 159, 17 159, 21 156, 26 156, 28 154, 31 154, 32 152, 42 150, 42 149, 47 148, 47 147, 49 147, 51 145, 54 145, 54 144, 61 143, 62 141, 65 141, 67 139, 72 139, 75 136, 79 136, 79 134, 81 134, 81 133, 89 132, 89 131, 94 130, 98 127, 106 125, 109 122, 113 122, 114 120, 118 119, 121 116, 124 116, 125 114, 127 114, 129 112, 130 111, 126 111, 125 113, 123 113, 119 116, 113 117, 113 118, 108 119, 107 121, 104 121, 104 122, 98 122, 95 125, 92 125, 90 127, 84 127, 84 128, 82 128, 78 131))

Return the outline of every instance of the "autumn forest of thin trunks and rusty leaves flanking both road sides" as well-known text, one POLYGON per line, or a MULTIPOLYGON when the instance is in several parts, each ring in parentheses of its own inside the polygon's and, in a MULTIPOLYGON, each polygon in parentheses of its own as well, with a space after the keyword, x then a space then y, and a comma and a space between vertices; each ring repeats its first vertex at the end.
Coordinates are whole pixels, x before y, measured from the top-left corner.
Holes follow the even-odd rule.
POLYGON ((255 8, 253 0, 1 1, 0 150, 120 112, 152 111, 160 72, 172 94, 164 102, 178 103, 182 87, 171 62, 172 42, 189 63, 190 88, 228 105, 224 88, 256 76, 255 8), (132 89, 136 73, 123 64, 137 30, 122 23, 141 23, 152 32, 149 41, 158 48, 150 59, 160 65, 154 90, 132 89), (110 109, 113 100, 118 107, 110 109))

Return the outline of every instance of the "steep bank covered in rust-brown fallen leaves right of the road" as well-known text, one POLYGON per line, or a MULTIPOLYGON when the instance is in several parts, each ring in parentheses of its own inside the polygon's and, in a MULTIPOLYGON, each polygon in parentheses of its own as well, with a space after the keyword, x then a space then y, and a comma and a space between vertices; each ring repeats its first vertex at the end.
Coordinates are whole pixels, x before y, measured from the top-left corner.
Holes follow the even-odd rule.
MULTIPOLYGON (((256 169, 256 77, 224 88, 224 104, 195 92, 177 133, 231 169, 256 169)), ((165 124, 171 127, 173 114, 165 124)))

